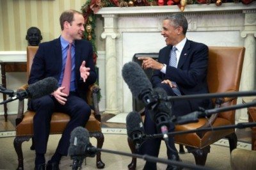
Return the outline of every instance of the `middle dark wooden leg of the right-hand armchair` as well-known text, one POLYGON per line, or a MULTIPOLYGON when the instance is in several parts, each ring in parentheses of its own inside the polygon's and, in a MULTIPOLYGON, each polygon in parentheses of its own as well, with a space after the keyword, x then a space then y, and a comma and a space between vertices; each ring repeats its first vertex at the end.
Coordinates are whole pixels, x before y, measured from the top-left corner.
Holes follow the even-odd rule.
POLYGON ((202 148, 202 149, 193 148, 189 146, 186 146, 186 148, 188 149, 189 153, 193 153, 195 157, 196 165, 201 165, 201 166, 205 165, 207 155, 210 152, 210 148, 211 148, 210 146, 206 146, 205 148, 202 148))

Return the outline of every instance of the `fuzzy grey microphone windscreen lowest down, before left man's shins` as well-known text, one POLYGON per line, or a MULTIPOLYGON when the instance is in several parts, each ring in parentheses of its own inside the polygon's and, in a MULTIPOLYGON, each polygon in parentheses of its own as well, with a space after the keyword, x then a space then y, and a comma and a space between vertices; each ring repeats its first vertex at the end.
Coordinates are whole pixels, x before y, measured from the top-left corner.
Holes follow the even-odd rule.
POLYGON ((90 143, 89 132, 86 128, 76 127, 70 134, 70 146, 68 155, 79 156, 84 154, 84 148, 90 143))

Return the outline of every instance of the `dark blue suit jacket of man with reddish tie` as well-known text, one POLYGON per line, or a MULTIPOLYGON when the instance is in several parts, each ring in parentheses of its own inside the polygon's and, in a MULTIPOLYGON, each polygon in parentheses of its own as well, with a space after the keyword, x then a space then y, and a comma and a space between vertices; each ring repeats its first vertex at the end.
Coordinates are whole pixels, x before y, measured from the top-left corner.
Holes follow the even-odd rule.
MULTIPOLYGON (((75 42, 75 70, 76 70, 76 90, 81 98, 84 98, 85 90, 97 79, 95 66, 93 63, 92 44, 86 40, 76 40, 75 42), (90 75, 86 82, 80 78, 79 68, 81 63, 86 61, 86 67, 90 67, 90 75)), ((60 38, 51 42, 40 43, 33 59, 28 84, 33 84, 46 77, 54 77, 59 81, 62 66, 62 51, 60 38)))

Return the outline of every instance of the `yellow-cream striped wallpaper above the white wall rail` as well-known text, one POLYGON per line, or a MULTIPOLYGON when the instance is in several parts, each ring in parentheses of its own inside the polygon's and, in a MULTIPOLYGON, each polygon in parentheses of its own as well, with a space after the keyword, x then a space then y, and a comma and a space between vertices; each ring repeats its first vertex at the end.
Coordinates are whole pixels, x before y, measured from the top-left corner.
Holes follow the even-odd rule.
POLYGON ((29 27, 38 27, 47 42, 60 36, 64 10, 81 12, 85 0, 0 0, 0 51, 26 50, 29 27))

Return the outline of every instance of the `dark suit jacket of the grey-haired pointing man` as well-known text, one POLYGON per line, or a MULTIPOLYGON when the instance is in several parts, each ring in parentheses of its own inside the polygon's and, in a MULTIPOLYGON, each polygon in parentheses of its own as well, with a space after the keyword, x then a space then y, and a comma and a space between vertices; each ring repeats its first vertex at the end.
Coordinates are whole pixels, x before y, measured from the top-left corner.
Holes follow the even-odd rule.
MULTIPOLYGON (((159 51, 159 63, 166 64, 166 74, 155 70, 151 82, 155 87, 164 79, 174 81, 179 86, 182 95, 209 93, 207 86, 208 47, 203 43, 187 40, 180 54, 177 68, 169 66, 170 51, 172 46, 168 45, 159 51)), ((189 100, 191 109, 200 107, 211 107, 210 100, 189 100)))

